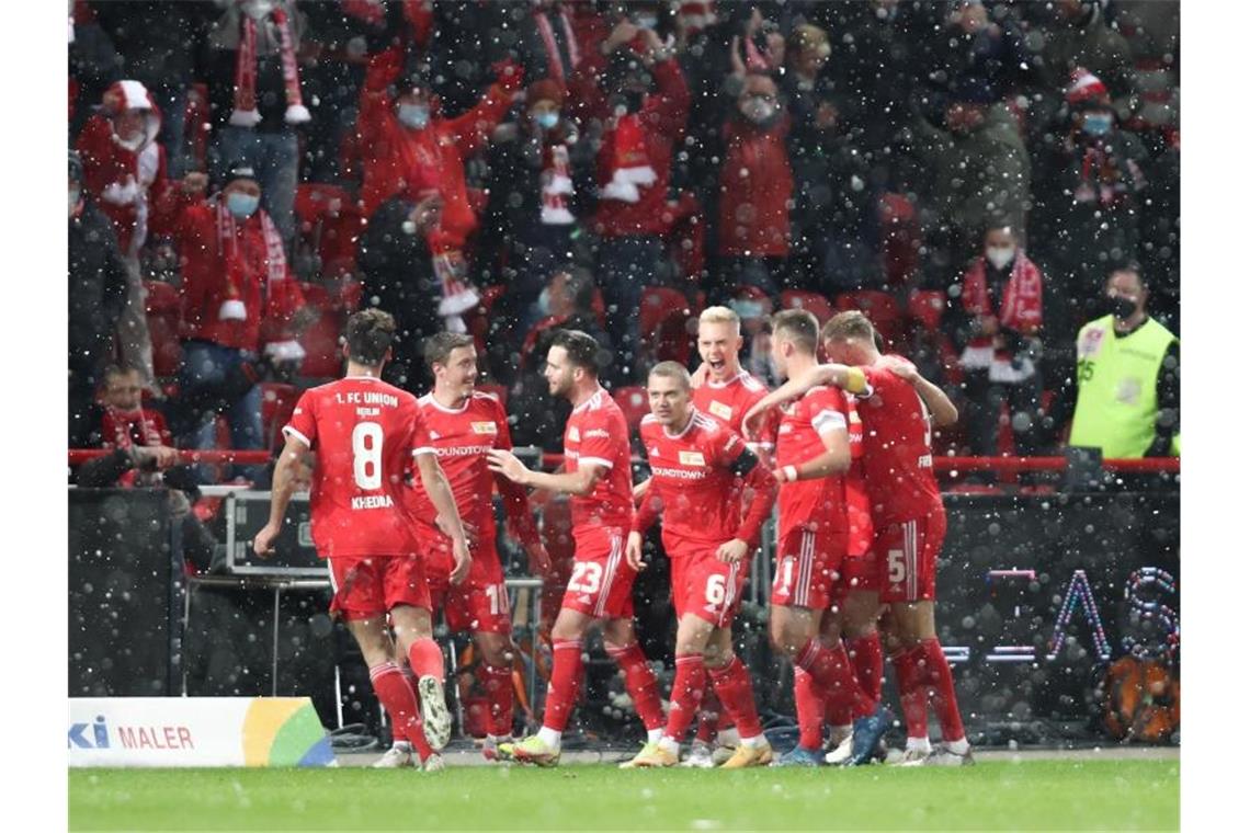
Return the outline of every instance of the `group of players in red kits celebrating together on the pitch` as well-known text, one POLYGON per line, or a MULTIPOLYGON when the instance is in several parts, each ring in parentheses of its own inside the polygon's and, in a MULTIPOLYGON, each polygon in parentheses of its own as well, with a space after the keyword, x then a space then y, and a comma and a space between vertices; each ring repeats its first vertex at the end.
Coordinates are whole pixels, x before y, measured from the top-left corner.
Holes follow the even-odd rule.
POLYGON ((432 611, 442 611, 449 628, 471 632, 481 652, 490 759, 559 763, 584 677, 584 639, 600 627, 646 728, 641 752, 622 767, 869 763, 892 722, 881 703, 886 654, 908 728, 900 763, 971 763, 934 624, 946 521, 930 432, 954 422, 954 406, 909 362, 882 356, 859 312, 824 328, 802 310, 774 316, 772 360, 786 381, 772 392, 741 370, 739 326, 731 310, 710 307, 699 321, 702 365, 694 376, 675 362, 651 368, 650 415, 639 426, 651 476, 634 485, 629 428, 599 383, 601 348, 590 336, 561 331, 546 356, 550 393, 572 406, 564 466, 549 473, 511 453, 502 406, 475 392, 471 337, 428 340, 435 383, 419 400, 380 380, 391 317, 378 310, 351 317, 346 376, 306 391, 284 428, 270 521, 254 546, 271 551, 300 460, 315 452, 312 538, 329 561, 331 609, 360 644, 395 738, 376 766, 442 767, 451 716, 432 611), (821 346, 829 363, 818 361, 821 346), (568 495, 572 512, 574 564, 551 628, 542 726, 518 741, 494 488, 538 574, 550 561, 528 490, 568 495), (742 587, 774 506, 770 642, 794 666, 799 723, 798 744, 780 756, 732 647, 742 587), (658 520, 678 617, 666 714, 632 622, 634 579, 646 568, 642 538, 658 520), (941 726, 935 746, 930 704, 941 726))

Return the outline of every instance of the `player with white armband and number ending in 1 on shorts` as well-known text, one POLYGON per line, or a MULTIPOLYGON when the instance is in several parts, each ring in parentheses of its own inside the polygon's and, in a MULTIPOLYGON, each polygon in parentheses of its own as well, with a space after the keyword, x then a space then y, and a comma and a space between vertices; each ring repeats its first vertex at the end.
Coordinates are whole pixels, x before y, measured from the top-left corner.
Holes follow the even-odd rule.
MULTIPOLYGON (((816 366, 816 317, 805 310, 772 316, 772 361, 785 377, 816 366)), ((800 396, 768 395, 764 403, 785 403, 778 427, 775 477, 779 497, 776 577, 769 623, 772 647, 814 686, 810 707, 822 712, 826 701, 850 711, 856 746, 875 748, 889 728, 889 712, 864 693, 841 641, 820 641, 821 623, 831 616, 834 587, 846 557, 846 492, 842 475, 850 468, 846 398, 832 387, 811 387, 800 396)), ((819 727, 818 727, 819 728, 819 727)), ((778 761, 780 766, 824 763, 821 738, 800 736, 778 761)))

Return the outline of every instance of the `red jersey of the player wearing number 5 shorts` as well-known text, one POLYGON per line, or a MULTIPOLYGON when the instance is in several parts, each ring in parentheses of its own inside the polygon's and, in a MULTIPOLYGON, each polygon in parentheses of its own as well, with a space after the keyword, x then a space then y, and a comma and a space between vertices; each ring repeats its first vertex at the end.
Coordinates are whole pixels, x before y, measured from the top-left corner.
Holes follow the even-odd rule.
POLYGON ((934 477, 929 408, 914 387, 889 370, 862 367, 864 475, 879 527, 941 511, 934 477))

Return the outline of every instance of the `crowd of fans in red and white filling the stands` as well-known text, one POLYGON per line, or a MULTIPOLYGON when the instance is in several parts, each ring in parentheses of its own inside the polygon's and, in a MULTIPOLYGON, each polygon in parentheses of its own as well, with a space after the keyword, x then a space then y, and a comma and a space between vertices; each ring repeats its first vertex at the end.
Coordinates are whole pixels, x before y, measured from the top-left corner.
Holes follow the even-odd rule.
POLYGON ((1176 4, 69 5, 71 447, 120 365, 168 443, 262 448, 260 382, 334 375, 369 305, 391 381, 471 332, 550 445, 545 331, 628 386, 726 303, 764 377, 770 312, 865 308, 966 450, 1005 403, 1034 453, 1112 274, 1179 326, 1176 4))

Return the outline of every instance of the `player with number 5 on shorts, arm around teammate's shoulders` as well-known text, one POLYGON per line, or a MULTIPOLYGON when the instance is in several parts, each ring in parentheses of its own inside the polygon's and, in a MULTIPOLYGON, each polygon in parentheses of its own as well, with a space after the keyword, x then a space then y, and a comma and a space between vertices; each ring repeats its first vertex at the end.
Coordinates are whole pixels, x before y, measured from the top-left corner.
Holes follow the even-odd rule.
POLYGON ((938 552, 946 535, 946 511, 932 470, 930 412, 940 426, 952 423, 959 413, 941 388, 916 373, 909 362, 880 353, 872 323, 861 312, 834 316, 824 335, 834 363, 796 373, 761 400, 748 420, 754 417, 754 410, 762 411, 816 386, 836 385, 860 397, 865 477, 875 527, 872 553, 880 598, 890 606, 902 646, 891 663, 899 679, 909 748, 922 749, 921 738, 928 744, 925 714, 931 702, 941 723, 942 743, 916 763, 971 763, 950 664, 934 622, 938 552))

